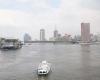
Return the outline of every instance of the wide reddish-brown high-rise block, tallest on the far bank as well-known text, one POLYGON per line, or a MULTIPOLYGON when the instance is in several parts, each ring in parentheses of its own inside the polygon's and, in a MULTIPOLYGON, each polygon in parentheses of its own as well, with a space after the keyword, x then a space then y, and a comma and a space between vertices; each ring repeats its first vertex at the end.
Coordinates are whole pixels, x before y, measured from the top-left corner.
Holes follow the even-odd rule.
POLYGON ((90 23, 81 23, 81 40, 83 43, 90 42, 90 23))

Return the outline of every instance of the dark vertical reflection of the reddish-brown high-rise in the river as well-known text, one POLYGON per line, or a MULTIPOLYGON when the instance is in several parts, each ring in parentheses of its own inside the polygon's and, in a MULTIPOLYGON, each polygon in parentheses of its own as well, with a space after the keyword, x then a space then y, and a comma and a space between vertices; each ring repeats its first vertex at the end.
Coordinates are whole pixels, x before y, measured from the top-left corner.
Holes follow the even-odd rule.
POLYGON ((81 45, 81 63, 82 63, 82 76, 83 80, 91 79, 91 51, 90 45, 81 45))

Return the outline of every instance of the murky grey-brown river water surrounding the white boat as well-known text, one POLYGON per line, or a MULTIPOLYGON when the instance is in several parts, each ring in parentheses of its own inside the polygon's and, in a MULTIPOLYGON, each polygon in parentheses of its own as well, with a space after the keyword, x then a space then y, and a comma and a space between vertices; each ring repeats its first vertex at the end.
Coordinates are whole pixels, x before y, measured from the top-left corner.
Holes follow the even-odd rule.
POLYGON ((32 44, 0 51, 0 80, 100 80, 100 45, 32 44), (42 60, 52 64, 37 76, 42 60))

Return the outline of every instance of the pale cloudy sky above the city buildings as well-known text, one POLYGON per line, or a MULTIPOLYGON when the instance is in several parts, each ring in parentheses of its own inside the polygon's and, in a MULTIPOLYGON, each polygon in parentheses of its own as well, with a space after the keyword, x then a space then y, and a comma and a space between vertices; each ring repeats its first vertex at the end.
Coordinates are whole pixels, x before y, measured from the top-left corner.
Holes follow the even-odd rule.
POLYGON ((60 34, 80 35, 82 22, 90 23, 91 33, 100 34, 100 0, 0 0, 0 37, 23 39, 28 33, 46 38, 55 28, 60 34))

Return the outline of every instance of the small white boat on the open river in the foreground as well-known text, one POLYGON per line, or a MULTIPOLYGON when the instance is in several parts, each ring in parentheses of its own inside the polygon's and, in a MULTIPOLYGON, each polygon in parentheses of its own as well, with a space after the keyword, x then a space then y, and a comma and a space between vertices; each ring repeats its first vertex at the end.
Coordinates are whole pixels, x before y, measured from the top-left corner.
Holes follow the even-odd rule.
POLYGON ((38 67, 38 75, 47 75, 51 70, 51 64, 47 61, 42 61, 38 67))

